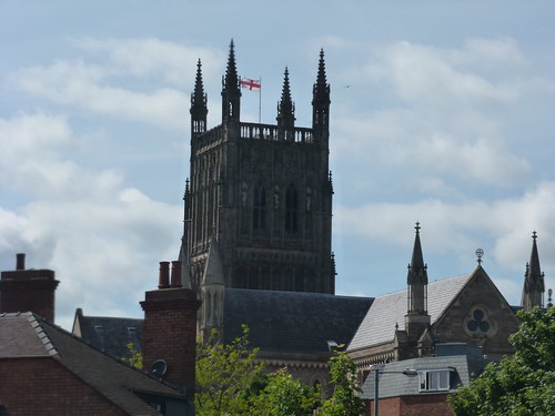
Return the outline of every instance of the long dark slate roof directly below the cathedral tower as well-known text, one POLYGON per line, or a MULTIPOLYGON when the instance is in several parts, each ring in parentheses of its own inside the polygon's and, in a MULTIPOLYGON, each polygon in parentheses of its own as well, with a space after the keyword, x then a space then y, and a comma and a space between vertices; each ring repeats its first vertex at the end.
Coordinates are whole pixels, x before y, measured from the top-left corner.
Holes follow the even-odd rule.
POLYGON ((224 342, 250 328, 251 346, 261 351, 327 353, 327 341, 347 345, 372 297, 320 293, 226 288, 224 342))

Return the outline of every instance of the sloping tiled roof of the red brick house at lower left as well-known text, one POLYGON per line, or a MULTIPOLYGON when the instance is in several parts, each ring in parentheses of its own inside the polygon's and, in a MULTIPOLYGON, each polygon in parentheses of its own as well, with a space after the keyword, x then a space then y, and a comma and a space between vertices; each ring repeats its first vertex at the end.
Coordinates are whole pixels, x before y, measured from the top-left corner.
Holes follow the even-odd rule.
POLYGON ((0 361, 54 357, 130 415, 160 415, 133 392, 185 400, 170 386, 92 348, 77 336, 30 312, 0 314, 0 361))

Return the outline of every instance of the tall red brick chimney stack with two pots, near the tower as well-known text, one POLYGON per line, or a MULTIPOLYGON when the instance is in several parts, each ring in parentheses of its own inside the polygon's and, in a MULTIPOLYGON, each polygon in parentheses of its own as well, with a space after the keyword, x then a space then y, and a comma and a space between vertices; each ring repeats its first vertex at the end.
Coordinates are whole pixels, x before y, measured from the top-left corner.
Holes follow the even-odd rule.
POLYGON ((160 262, 159 288, 144 294, 143 365, 151 372, 160 359, 167 372, 157 374, 163 381, 185 387, 194 399, 194 363, 196 355, 196 311, 200 301, 195 293, 182 286, 181 262, 172 262, 171 284, 169 262, 160 262))

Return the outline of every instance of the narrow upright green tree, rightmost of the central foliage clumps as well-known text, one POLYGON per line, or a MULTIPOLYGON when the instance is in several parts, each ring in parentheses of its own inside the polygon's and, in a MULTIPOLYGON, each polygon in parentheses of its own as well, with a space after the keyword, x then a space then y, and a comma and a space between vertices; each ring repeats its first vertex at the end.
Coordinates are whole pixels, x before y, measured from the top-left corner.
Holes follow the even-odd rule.
POLYGON ((339 352, 330 359, 330 374, 334 385, 333 395, 325 400, 317 413, 321 416, 359 416, 364 412, 364 404, 359 397, 356 386, 356 365, 344 352, 339 352))

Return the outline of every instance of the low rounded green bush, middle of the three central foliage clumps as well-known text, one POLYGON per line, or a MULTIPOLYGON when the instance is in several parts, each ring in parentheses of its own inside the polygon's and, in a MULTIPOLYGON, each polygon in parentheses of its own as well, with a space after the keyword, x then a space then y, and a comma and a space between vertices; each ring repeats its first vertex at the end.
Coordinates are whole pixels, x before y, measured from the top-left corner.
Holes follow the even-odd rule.
POLYGON ((255 415, 310 416, 320 403, 320 392, 293 378, 286 368, 270 374, 254 404, 255 415))

